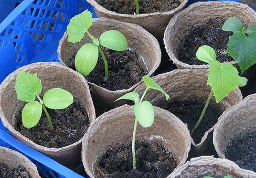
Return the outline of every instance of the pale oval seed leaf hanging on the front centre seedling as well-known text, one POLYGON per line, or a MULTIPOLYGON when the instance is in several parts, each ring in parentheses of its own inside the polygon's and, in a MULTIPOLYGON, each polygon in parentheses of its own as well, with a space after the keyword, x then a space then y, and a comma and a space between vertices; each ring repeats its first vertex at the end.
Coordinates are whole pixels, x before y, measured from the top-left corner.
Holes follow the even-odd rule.
POLYGON ((138 123, 144 128, 150 127, 154 123, 155 110, 153 105, 148 101, 143 101, 141 103, 135 103, 134 114, 138 123))

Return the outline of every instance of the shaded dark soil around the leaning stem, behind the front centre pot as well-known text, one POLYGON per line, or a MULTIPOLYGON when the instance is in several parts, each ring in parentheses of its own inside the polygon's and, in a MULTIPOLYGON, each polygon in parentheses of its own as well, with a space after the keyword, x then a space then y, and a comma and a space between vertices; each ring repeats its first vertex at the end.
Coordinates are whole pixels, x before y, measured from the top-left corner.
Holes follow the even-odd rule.
MULTIPOLYGON (((188 129, 191 131, 201 115, 206 100, 207 99, 203 98, 191 98, 189 100, 174 99, 173 101, 169 101, 160 107, 177 116, 183 121, 183 123, 187 124, 188 129)), ((223 110, 218 107, 217 104, 209 104, 204 118, 202 119, 197 130, 192 135, 192 138, 196 144, 201 141, 201 138, 204 136, 205 132, 217 123, 218 118, 222 113, 223 110)))

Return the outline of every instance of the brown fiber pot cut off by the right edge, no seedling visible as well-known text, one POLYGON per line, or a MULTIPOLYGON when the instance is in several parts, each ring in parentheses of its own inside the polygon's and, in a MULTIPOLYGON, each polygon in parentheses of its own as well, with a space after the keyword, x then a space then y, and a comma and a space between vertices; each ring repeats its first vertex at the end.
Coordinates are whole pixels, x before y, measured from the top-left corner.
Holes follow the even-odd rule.
POLYGON ((236 135, 256 131, 255 115, 256 94, 247 96, 222 114, 214 131, 214 147, 219 158, 225 158, 225 149, 236 135))

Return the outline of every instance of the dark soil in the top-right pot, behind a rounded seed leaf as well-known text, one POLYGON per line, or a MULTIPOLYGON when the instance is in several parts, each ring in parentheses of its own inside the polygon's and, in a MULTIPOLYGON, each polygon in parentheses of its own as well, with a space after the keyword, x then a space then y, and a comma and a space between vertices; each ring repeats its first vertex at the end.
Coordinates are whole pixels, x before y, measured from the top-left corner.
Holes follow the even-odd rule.
POLYGON ((207 64, 196 58, 196 52, 199 47, 208 45, 215 49, 218 61, 233 61, 225 52, 232 32, 221 30, 224 23, 225 20, 222 18, 210 18, 206 24, 188 29, 188 35, 180 39, 176 51, 178 60, 190 65, 207 64))

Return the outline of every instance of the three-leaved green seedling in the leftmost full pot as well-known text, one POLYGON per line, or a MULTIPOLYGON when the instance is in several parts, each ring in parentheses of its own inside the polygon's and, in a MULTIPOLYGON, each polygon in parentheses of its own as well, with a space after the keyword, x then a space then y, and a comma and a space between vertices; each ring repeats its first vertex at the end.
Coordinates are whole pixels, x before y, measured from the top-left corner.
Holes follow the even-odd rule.
POLYGON ((19 72, 16 78, 15 90, 17 99, 27 102, 22 110, 22 124, 30 129, 35 127, 44 109, 50 130, 53 130, 52 122, 46 107, 50 109, 64 109, 73 103, 73 96, 62 88, 51 88, 44 93, 41 99, 39 94, 42 92, 42 83, 37 74, 19 72), (38 101, 35 101, 35 99, 38 101))

